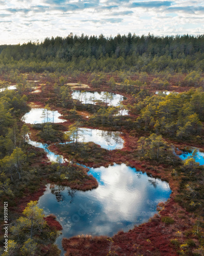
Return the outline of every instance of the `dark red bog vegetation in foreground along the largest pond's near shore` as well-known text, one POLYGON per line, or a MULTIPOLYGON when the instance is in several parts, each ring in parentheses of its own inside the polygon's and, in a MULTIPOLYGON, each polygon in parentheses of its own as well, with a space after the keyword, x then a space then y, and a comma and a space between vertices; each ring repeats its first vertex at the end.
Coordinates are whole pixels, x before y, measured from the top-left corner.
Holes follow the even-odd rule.
MULTIPOLYGON (((164 207, 164 204, 160 204, 164 207)), ((181 206, 170 199, 160 215, 155 215, 149 222, 136 226, 129 232, 118 232, 112 240, 107 237, 79 236, 71 239, 63 239, 62 245, 66 250, 65 255, 95 256, 95 255, 160 255, 177 256, 175 248, 170 240, 183 241, 182 233, 194 224, 190 214, 181 206), (169 225, 162 221, 163 216, 169 216, 174 223, 169 225), (176 232, 181 231, 178 237, 176 232), (111 251, 111 252, 110 252, 111 251)))

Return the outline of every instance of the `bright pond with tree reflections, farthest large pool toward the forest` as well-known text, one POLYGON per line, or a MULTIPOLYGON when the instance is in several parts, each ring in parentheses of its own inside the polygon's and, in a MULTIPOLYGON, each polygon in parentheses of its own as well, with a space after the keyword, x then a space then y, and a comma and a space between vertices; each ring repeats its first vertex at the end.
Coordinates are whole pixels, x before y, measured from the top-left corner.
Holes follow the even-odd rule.
POLYGON ((95 104, 97 101, 104 102, 104 105, 118 106, 121 100, 126 99, 120 94, 114 94, 109 92, 90 92, 90 91, 80 91, 73 90, 73 99, 79 99, 82 103, 95 104))

